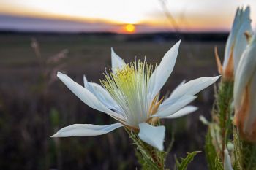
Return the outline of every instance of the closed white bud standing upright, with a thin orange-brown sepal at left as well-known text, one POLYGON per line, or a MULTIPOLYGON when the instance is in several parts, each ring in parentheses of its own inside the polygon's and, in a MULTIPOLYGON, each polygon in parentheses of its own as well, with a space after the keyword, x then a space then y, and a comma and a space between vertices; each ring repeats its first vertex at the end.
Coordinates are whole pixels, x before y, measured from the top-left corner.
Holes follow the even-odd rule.
POLYGON ((249 15, 249 7, 246 7, 246 9, 238 7, 236 10, 233 26, 227 38, 223 66, 220 63, 217 48, 215 49, 219 73, 222 74, 225 80, 233 80, 238 62, 248 44, 249 36, 252 35, 251 19, 249 15))

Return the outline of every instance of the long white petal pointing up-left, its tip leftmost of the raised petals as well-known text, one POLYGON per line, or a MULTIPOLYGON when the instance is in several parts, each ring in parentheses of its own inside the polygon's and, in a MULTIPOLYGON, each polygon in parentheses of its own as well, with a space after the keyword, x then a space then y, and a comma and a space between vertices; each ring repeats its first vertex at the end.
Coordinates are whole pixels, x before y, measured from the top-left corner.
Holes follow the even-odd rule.
POLYGON ((94 96, 93 93, 91 93, 86 88, 83 88, 83 86, 79 85, 77 82, 74 82, 66 74, 58 72, 57 77, 59 77, 59 79, 64 82, 65 85, 67 85, 67 88, 69 88, 69 90, 71 90, 75 96, 78 96, 78 98, 80 98, 80 100, 87 104, 89 107, 97 109, 101 112, 105 112, 113 118, 123 119, 121 115, 118 115, 116 112, 113 112, 112 110, 105 107, 98 100, 98 98, 94 96))

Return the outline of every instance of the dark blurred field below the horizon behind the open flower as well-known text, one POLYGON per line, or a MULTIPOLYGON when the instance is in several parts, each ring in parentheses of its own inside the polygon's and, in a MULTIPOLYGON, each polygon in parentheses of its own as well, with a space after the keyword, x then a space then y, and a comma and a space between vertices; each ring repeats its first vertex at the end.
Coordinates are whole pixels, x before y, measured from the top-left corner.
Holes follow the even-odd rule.
MULTIPOLYGON (((161 60, 175 41, 127 41, 122 36, 37 35, 41 63, 29 35, 0 36, 0 169, 135 169, 138 164, 124 129, 103 136, 51 139, 59 128, 73 123, 107 125, 114 120, 90 109, 59 80, 61 71, 83 83, 83 74, 93 81, 110 68, 110 47, 125 61, 134 56, 153 63, 161 60), (67 58, 45 61, 67 49, 67 58)), ((181 41, 173 74, 162 90, 173 90, 182 80, 217 75, 214 45, 222 56, 224 42, 181 41)), ((199 110, 177 120, 165 120, 165 146, 175 131, 175 144, 167 165, 194 150, 203 151, 206 126, 199 115, 209 117, 214 87, 203 90, 193 103, 199 110)), ((189 169, 207 169, 204 153, 189 169)))

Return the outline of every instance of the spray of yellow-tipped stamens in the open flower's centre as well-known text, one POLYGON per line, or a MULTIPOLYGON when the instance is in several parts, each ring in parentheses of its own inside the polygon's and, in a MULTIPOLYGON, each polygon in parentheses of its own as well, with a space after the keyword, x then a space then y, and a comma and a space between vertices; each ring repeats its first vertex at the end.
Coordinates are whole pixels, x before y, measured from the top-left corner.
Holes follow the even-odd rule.
POLYGON ((148 119, 151 105, 148 81, 152 70, 151 64, 139 60, 106 73, 105 80, 100 80, 121 108, 120 114, 129 125, 137 127, 148 119))

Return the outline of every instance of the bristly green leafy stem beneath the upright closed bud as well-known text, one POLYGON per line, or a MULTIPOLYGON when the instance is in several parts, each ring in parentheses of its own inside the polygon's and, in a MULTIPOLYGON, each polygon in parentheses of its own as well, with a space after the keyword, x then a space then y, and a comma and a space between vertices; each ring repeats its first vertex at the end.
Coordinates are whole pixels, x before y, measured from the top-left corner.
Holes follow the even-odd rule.
POLYGON ((213 122, 208 123, 206 134, 206 160, 208 169, 223 170, 224 150, 231 141, 233 132, 233 82, 220 82, 215 100, 212 110, 213 122))

